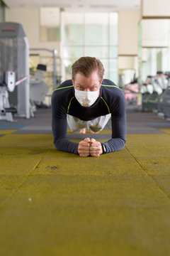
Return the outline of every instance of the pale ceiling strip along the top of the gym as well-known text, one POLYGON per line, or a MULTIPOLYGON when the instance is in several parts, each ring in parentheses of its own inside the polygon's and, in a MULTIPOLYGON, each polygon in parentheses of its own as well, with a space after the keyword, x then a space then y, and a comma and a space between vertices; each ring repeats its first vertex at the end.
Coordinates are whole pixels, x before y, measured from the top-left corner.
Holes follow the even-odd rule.
POLYGON ((140 0, 4 0, 9 8, 60 7, 69 11, 120 11, 140 9, 140 0))

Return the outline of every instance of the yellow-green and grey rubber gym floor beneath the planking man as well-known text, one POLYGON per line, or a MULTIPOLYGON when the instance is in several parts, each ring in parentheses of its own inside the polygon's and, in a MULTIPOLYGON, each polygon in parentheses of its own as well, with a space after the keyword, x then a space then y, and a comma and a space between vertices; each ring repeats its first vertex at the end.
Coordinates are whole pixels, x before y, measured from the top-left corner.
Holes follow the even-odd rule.
POLYGON ((81 158, 42 119, 0 122, 0 255, 170 255, 170 123, 130 112, 122 151, 81 158))

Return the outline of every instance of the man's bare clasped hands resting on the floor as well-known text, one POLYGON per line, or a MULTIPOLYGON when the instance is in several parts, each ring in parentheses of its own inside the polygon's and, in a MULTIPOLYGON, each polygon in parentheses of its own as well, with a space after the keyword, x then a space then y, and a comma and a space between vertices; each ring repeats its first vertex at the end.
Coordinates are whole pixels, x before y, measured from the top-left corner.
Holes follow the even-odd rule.
POLYGON ((84 141, 79 142, 78 146, 79 156, 100 156, 103 153, 101 142, 96 139, 86 138, 84 141))

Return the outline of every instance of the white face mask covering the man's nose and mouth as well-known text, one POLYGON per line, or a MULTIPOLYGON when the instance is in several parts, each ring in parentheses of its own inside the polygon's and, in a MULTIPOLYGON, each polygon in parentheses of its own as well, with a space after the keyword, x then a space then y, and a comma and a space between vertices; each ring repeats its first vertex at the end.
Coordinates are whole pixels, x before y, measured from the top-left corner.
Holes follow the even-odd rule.
POLYGON ((90 107, 91 105, 93 105, 94 102, 96 102, 99 95, 99 90, 96 90, 94 92, 76 90, 75 88, 74 90, 75 90, 75 97, 83 107, 90 107))

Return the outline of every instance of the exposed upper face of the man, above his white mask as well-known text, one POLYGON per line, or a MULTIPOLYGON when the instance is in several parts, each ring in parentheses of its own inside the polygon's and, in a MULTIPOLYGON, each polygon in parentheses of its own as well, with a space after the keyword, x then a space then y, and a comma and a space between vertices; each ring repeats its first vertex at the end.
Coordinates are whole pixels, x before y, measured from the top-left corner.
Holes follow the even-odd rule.
MULTIPOLYGON (((72 79, 74 88, 76 90, 86 91, 86 92, 94 92, 100 89, 101 82, 99 81, 97 72, 91 74, 89 78, 86 78, 83 74, 77 73, 75 79, 72 79)), ((98 96, 100 94, 100 90, 98 96)))

